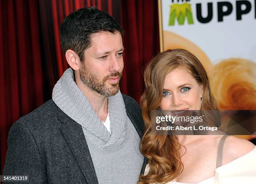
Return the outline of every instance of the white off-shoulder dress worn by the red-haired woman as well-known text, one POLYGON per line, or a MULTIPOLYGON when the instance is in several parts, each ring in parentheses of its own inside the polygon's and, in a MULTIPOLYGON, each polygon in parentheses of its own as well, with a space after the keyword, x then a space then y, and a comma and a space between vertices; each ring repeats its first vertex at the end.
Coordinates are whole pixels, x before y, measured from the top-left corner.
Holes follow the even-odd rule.
MULTIPOLYGON (((148 171, 149 166, 146 165, 145 174, 148 171)), ((170 181, 166 184, 191 183, 170 181)), ((256 147, 246 155, 216 168, 215 176, 196 184, 256 184, 256 147)))

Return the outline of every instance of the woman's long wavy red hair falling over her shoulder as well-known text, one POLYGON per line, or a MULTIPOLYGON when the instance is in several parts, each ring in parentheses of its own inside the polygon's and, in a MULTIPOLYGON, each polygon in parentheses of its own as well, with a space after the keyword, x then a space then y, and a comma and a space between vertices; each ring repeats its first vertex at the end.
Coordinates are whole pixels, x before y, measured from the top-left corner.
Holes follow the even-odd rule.
MULTIPOLYGON (((140 142, 141 153, 148 158, 149 171, 140 175, 138 184, 166 183, 183 170, 177 135, 156 135, 151 132, 151 112, 161 104, 164 80, 176 68, 189 71, 203 87, 201 110, 218 110, 210 90, 207 73, 200 61, 184 49, 167 50, 157 54, 147 64, 144 72, 145 90, 141 96, 144 133, 140 142)), ((216 118, 216 115, 210 115, 216 118)))

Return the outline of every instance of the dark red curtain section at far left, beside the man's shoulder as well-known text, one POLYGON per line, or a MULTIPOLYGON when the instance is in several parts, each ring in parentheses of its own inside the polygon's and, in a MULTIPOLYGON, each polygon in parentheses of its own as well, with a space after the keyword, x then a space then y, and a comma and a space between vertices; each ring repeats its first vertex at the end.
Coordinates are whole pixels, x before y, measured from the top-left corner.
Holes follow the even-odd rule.
POLYGON ((0 1, 1 171, 11 125, 44 102, 37 7, 34 0, 0 1))

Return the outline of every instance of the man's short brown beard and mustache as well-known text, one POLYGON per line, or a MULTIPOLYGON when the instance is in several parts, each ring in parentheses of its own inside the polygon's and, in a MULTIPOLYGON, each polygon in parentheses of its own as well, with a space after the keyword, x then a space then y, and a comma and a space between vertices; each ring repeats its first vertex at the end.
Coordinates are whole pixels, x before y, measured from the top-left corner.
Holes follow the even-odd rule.
POLYGON ((81 66, 80 72, 80 79, 82 82, 87 85, 90 89, 98 92, 100 95, 109 97, 116 95, 119 90, 119 82, 120 78, 122 77, 122 73, 120 72, 113 72, 107 76, 105 76, 101 81, 100 79, 95 75, 90 73, 90 71, 86 68, 85 64, 83 63, 81 66), (106 82, 108 79, 112 77, 119 77, 118 82, 114 84, 110 84, 111 87, 106 86, 106 82))

